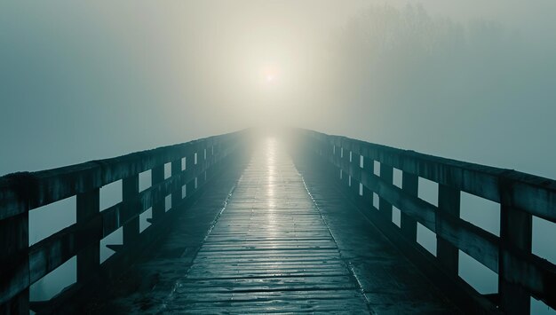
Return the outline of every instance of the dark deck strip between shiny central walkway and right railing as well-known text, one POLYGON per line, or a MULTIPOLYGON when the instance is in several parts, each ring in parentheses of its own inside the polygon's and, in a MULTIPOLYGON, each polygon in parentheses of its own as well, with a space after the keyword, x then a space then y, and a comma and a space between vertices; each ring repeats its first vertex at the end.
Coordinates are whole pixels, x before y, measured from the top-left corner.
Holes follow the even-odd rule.
MULTIPOLYGON (((462 313, 364 216, 355 202, 346 198, 346 193, 353 194, 351 187, 341 187, 330 180, 326 171, 315 169, 314 159, 296 156, 294 161, 372 314, 462 313)), ((353 184, 356 183, 352 182, 352 187, 357 186, 353 184)), ((359 187, 355 195, 360 196, 359 187)), ((376 212, 377 217, 383 217, 376 212)))

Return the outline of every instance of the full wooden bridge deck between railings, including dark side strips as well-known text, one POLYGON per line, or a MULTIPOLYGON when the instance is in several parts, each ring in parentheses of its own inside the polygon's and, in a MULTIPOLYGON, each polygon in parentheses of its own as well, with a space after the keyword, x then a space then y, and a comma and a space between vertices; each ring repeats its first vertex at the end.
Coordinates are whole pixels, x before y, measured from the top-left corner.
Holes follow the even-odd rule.
POLYGON ((255 151, 222 209, 224 191, 205 193, 134 276, 88 311, 457 311, 333 185, 302 177, 274 141, 255 151))

